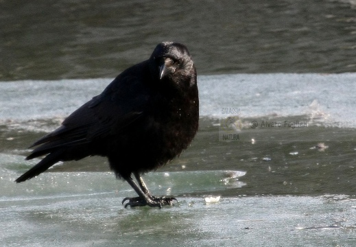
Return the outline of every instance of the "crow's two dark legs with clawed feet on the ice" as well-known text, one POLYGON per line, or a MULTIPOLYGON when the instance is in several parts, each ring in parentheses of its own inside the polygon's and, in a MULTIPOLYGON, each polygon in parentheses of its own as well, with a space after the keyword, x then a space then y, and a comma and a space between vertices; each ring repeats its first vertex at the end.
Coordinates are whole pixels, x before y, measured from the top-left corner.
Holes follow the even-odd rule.
POLYGON ((165 205, 172 205, 173 200, 176 200, 176 198, 157 198, 155 196, 152 196, 150 194, 150 191, 148 191, 147 186, 143 182, 143 179, 138 173, 134 173, 135 178, 137 179, 137 182, 139 183, 139 186, 134 182, 134 180, 130 177, 127 178, 126 181, 131 185, 131 187, 136 191, 136 193, 139 195, 139 197, 136 198, 124 198, 122 201, 122 204, 128 200, 128 202, 125 204, 125 207, 141 207, 141 206, 150 206, 150 207, 162 207, 165 205))

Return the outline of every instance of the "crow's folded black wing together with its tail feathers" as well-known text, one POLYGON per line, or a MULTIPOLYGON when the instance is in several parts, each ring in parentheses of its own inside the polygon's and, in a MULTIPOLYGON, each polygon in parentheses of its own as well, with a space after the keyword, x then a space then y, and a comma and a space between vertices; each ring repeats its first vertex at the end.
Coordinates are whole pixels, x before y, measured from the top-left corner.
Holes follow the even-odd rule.
POLYGON ((16 183, 45 172, 58 161, 84 158, 95 150, 88 147, 100 145, 100 140, 117 135, 143 116, 149 93, 145 86, 143 67, 137 64, 121 73, 100 95, 75 110, 54 132, 36 141, 35 148, 26 159, 47 154, 39 163, 16 179, 16 183))

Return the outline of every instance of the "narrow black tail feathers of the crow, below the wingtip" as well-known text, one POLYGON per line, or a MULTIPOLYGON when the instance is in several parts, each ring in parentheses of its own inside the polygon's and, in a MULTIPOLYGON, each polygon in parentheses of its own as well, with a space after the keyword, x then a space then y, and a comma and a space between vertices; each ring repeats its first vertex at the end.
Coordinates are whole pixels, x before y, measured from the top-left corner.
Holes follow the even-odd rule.
POLYGON ((42 161, 38 162, 37 165, 29 169, 27 172, 22 174, 19 178, 15 180, 16 183, 21 183, 25 180, 33 178, 38 174, 45 172, 49 167, 60 161, 60 156, 62 152, 52 152, 45 156, 42 161))

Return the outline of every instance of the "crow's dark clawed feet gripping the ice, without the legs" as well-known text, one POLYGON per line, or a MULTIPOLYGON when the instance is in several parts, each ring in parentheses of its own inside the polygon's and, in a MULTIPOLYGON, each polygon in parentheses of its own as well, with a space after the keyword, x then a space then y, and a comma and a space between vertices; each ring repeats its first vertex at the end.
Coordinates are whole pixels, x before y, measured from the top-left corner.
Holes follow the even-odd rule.
POLYGON ((161 208, 162 206, 172 206, 174 203, 173 201, 178 202, 176 198, 166 198, 166 197, 161 197, 157 198, 155 196, 150 196, 149 198, 141 198, 141 197, 136 197, 136 198, 123 198, 122 204, 124 204, 126 201, 128 201, 125 204, 125 208, 130 206, 130 207, 143 207, 143 206, 150 206, 150 207, 159 207, 161 208))

